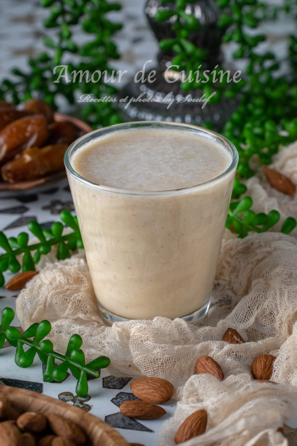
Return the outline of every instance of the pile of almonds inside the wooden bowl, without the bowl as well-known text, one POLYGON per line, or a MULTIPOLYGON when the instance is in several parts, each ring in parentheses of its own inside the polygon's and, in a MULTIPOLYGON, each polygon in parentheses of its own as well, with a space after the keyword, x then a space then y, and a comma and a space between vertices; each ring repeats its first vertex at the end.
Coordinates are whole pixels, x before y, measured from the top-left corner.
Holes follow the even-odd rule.
POLYGON ((56 413, 19 413, 10 401, 0 397, 0 446, 85 445, 81 427, 56 413))

